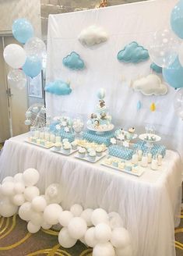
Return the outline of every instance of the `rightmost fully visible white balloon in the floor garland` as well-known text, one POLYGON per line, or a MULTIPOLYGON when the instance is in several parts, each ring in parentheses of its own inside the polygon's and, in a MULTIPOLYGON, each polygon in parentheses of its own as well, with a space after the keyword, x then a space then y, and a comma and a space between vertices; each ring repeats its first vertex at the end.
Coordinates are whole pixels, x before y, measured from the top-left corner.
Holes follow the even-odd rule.
POLYGON ((111 234, 111 244, 116 248, 126 247, 131 243, 128 230, 124 228, 116 228, 111 234))

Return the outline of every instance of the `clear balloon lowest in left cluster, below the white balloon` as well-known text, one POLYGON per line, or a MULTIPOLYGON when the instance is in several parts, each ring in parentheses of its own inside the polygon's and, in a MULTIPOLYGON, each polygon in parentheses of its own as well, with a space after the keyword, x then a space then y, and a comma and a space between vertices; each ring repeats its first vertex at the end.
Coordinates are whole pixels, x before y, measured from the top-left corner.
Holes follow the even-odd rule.
POLYGON ((11 87, 22 90, 26 86, 26 75, 22 70, 12 69, 9 71, 8 81, 11 87))

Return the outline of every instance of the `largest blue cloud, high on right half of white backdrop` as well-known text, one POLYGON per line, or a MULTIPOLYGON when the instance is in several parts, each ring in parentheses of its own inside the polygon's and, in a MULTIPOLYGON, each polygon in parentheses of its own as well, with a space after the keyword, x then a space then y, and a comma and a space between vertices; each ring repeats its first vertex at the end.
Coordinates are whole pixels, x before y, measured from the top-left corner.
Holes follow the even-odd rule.
POLYGON ((138 62, 146 61, 149 58, 150 58, 150 55, 148 51, 135 41, 133 41, 130 44, 127 44, 124 49, 118 52, 119 62, 138 63, 138 62))

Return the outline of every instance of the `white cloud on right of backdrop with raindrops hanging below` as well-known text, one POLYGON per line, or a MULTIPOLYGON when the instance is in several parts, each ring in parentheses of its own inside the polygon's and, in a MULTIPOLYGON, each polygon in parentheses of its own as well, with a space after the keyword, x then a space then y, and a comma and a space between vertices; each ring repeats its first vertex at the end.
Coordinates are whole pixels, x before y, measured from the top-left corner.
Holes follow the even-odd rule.
POLYGON ((162 84, 160 77, 154 74, 132 81, 131 85, 135 91, 140 91, 144 95, 167 94, 167 85, 162 84))

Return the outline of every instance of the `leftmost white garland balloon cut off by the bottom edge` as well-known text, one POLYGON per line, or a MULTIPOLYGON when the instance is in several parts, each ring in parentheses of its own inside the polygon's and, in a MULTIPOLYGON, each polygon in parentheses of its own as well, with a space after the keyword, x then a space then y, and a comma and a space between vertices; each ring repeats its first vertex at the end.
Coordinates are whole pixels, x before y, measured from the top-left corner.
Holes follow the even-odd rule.
POLYGON ((114 247, 111 243, 97 244, 93 248, 93 256, 115 256, 114 247))

